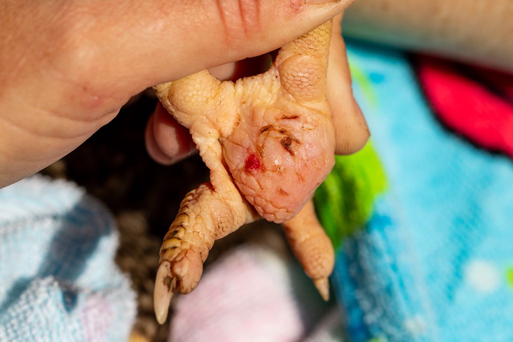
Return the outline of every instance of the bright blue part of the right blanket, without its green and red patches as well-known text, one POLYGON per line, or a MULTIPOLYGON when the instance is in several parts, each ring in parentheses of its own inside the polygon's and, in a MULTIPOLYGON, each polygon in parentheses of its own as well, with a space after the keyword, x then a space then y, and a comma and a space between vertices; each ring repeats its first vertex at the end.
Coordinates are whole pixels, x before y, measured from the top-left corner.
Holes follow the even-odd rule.
POLYGON ((446 130, 404 54, 354 42, 348 53, 387 178, 337 250, 348 336, 513 341, 512 160, 446 130))

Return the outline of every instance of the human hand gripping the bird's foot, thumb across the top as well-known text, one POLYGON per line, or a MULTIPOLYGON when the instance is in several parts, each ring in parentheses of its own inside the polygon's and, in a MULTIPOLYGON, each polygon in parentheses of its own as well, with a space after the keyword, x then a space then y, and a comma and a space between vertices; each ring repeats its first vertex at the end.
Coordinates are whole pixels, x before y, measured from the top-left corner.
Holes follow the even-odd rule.
MULTIPOLYGON (((145 88, 272 51, 350 3, 4 0, 0 187, 69 153, 145 88)), ((330 56, 328 98, 337 152, 347 153, 365 143, 368 131, 352 99, 342 40, 333 45, 339 48, 330 56)), ((164 114, 157 108, 148 147, 169 163, 191 147, 184 148, 188 135, 164 114)))

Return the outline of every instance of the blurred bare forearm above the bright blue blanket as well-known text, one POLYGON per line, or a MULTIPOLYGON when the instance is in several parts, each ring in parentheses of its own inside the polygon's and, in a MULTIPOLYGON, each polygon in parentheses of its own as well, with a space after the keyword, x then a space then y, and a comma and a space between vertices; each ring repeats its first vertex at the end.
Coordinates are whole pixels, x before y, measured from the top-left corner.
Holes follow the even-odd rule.
POLYGON ((510 0, 359 0, 346 36, 513 71, 510 0))

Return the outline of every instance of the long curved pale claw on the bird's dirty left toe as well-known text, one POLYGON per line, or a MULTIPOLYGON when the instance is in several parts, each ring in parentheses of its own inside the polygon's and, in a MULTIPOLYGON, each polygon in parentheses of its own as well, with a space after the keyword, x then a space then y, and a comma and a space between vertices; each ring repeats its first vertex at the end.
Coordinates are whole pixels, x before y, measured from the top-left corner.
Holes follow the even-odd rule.
POLYGON ((167 319, 175 281, 176 279, 171 275, 171 264, 169 261, 163 261, 157 271, 153 290, 153 308, 159 324, 164 324, 167 319))

